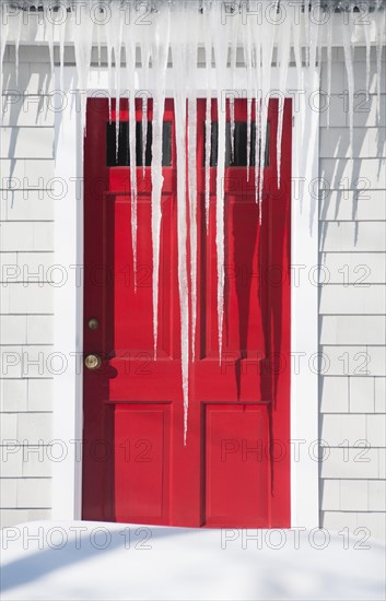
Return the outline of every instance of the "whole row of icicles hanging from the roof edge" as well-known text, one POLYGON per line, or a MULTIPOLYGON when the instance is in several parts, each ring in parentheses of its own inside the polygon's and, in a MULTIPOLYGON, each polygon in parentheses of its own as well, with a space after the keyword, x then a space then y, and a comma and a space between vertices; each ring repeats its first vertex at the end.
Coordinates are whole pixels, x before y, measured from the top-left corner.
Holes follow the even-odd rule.
MULTIPOLYGON (((43 13, 26 19, 20 7, 26 2, 3 2, 1 4, 0 74, 7 43, 15 47, 15 71, 19 72, 19 49, 21 40, 31 42, 33 35, 43 36, 48 45, 51 70, 55 66, 55 46, 59 48, 60 89, 63 90, 65 47, 74 46, 78 70, 78 87, 86 90, 92 59, 92 48, 96 46, 101 67, 102 47, 106 47, 109 98, 115 97, 117 106, 121 91, 129 97, 129 148, 131 175, 131 236, 133 267, 137 266, 137 169, 136 169, 136 127, 134 98, 137 49, 140 48, 141 68, 149 95, 153 98, 153 141, 152 141, 152 198, 151 227, 153 252, 153 337, 154 355, 157 347, 157 304, 161 231, 162 135, 163 114, 166 93, 166 74, 172 72, 175 107, 177 146, 177 239, 178 239, 178 290, 180 306, 182 379, 184 396, 184 444, 187 435, 189 361, 195 361, 196 314, 197 314, 197 180, 196 180, 196 127, 197 127, 197 60, 198 48, 204 48, 207 113, 206 113, 206 223, 209 220, 210 182, 210 121, 211 98, 218 99, 219 142, 217 168, 215 243, 218 264, 218 332, 219 356, 222 354, 222 332, 224 315, 224 190, 225 169, 225 113, 221 110, 222 91, 234 86, 237 49, 244 55, 247 97, 247 170, 250 163, 252 107, 256 110, 256 201, 261 202, 264 185, 264 156, 266 144, 268 98, 271 93, 271 66, 276 49, 279 73, 279 123, 277 135, 277 170, 280 186, 281 139, 283 96, 286 91, 288 71, 294 61, 297 73, 297 89, 304 89, 306 78, 315 72, 319 75, 321 50, 327 52, 327 95, 331 92, 332 64, 332 12, 326 13, 319 0, 299 0, 300 9, 289 0, 270 2, 221 2, 210 0, 166 1, 138 3, 137 0, 100 2, 89 0, 74 10, 75 2, 40 1, 43 13), (306 7, 304 7, 306 4, 306 7), (261 19, 253 15, 254 8, 260 7, 261 19), (67 11, 66 7, 72 8, 67 11), (142 8, 141 8, 142 7, 142 8), (249 12, 248 12, 249 10, 249 12), (139 12, 140 11, 140 12, 139 12), (79 16, 81 15, 81 17, 79 16), (108 19, 107 19, 108 16, 108 19), (33 21, 35 19, 35 21, 33 21), (78 21, 77 21, 78 20, 78 21), (34 30, 37 23, 37 28, 34 30), (35 31, 35 34, 32 32, 35 31), (169 57, 171 51, 171 57, 169 57), (125 61, 121 62, 122 56, 125 61), (169 58, 172 63, 169 64, 169 58), (119 67, 119 68, 118 68, 119 67), (151 86, 150 86, 151 82, 151 86), (255 101, 255 105, 254 105, 255 101), (188 161, 186 156, 188 153, 188 161), (186 167, 188 165, 188 168, 186 167), (188 198, 186 198, 186 189, 188 198), (189 232, 187 231, 189 223, 189 232), (189 240, 190 266, 187 264, 189 240), (190 278, 190 282, 189 282, 190 278), (191 293, 189 294, 189 288, 191 293)), ((359 11, 353 12, 355 2, 346 2, 348 13, 340 16, 338 38, 342 40, 349 93, 350 141, 353 134, 353 42, 363 42, 366 48, 366 92, 370 90, 371 46, 376 47, 378 114, 381 98, 382 50, 385 35, 385 2, 372 0, 359 2, 359 11), (370 8, 372 10, 370 10, 370 8)), ((327 3, 328 7, 328 3, 327 3)), ((337 34, 335 33, 335 36, 337 34)), ((337 38, 335 38, 337 40, 337 38)), ((308 80, 311 81, 311 80, 308 80)), ((2 90, 2 93, 7 91, 2 90)), ((278 90, 276 90, 276 95, 278 90)), ((142 97, 143 138, 147 139, 148 93, 142 97)), ((82 123, 85 122, 85 98, 82 95, 82 123)), ((234 149, 234 99, 230 95, 231 143, 234 149)), ((116 113, 117 133, 119 111, 116 113)), ((328 117, 329 122, 329 117, 328 117)), ((116 137, 118 140, 118 135, 116 137)), ((145 149, 143 149, 143 152, 145 149)), ((142 161, 142 165, 144 161, 142 161)), ((260 212, 261 215, 261 207, 260 212)))

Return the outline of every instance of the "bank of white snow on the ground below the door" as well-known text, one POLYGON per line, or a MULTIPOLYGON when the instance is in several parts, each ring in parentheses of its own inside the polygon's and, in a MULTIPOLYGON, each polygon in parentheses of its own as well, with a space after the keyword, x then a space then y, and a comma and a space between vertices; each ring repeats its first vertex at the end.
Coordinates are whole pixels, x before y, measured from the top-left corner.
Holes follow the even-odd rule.
POLYGON ((2 531, 1 599, 385 599, 385 545, 347 534, 28 522, 2 531))

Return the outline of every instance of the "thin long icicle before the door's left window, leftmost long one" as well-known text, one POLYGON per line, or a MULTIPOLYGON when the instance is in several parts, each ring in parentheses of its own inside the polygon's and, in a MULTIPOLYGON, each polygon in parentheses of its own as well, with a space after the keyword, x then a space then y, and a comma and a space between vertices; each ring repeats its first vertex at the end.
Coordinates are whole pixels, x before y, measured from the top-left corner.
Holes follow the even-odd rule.
POLYGON ((129 151, 130 151, 130 185, 131 185, 131 246, 134 292, 137 292, 137 228, 138 228, 138 193, 137 193, 137 155, 136 155, 136 37, 134 25, 125 32, 126 79, 129 93, 129 151))

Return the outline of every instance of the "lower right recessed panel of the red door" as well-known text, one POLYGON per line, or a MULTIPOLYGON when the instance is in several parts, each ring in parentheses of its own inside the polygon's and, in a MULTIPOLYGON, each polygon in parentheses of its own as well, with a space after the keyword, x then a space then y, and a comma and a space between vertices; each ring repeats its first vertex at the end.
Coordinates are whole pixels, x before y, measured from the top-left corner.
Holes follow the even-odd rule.
POLYGON ((268 413, 264 405, 206 406, 207 526, 269 523, 268 413))

